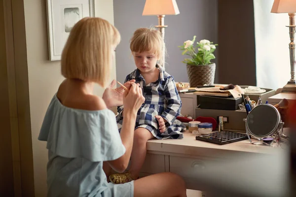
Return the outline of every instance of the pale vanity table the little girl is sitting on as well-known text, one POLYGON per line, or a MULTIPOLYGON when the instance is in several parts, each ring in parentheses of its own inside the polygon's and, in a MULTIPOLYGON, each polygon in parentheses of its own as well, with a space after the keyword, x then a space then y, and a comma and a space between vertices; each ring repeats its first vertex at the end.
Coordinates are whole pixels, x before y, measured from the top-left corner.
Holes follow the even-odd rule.
POLYGON ((148 140, 147 157, 140 176, 174 172, 184 178, 187 189, 202 190, 194 178, 199 170, 207 167, 207 163, 227 161, 235 155, 244 158, 273 154, 278 149, 280 148, 252 145, 249 140, 217 145, 196 140, 192 133, 185 131, 183 139, 148 140))

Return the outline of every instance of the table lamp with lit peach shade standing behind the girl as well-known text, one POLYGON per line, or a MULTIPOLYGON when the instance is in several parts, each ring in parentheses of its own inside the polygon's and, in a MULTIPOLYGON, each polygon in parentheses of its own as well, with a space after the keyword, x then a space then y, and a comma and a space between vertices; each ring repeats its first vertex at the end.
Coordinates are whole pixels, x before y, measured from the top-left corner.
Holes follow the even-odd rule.
MULTIPOLYGON (((164 25, 164 17, 165 15, 177 15, 180 14, 179 8, 177 5, 176 0, 146 0, 144 10, 143 10, 143 16, 151 16, 156 15, 158 17, 158 26, 155 26, 158 28, 158 30, 161 32, 162 40, 164 41, 164 29, 168 27, 167 25, 164 25)), ((163 65, 165 63, 165 47, 163 48, 163 65)))

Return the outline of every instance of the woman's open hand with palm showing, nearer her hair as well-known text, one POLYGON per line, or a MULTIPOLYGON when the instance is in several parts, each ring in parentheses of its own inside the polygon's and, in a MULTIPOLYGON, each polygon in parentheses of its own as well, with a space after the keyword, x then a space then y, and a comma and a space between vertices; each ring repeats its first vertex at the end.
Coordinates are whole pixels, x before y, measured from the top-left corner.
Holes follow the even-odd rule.
MULTIPOLYGON (((129 89, 131 86, 131 83, 134 83, 135 81, 136 81, 135 79, 132 79, 126 82, 124 86, 129 89)), ((122 95, 124 93, 124 88, 120 86, 119 88, 112 89, 115 85, 116 85, 116 80, 114 79, 103 93, 102 98, 104 99, 108 108, 117 107, 123 104, 122 95)))

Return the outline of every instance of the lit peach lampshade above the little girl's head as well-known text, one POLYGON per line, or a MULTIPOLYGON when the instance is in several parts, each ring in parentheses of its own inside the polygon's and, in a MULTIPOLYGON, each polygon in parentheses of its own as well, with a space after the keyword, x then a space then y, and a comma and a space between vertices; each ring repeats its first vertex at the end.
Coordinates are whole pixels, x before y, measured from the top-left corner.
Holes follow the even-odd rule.
POLYGON ((146 0, 144 15, 177 15, 180 14, 176 0, 146 0))

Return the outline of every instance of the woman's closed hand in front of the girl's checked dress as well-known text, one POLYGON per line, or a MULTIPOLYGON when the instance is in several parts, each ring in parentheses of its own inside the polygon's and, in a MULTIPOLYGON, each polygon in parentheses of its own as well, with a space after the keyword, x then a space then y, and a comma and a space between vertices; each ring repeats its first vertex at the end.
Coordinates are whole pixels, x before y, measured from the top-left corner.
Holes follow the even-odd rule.
POLYGON ((124 117, 136 115, 144 101, 142 89, 135 83, 131 83, 129 90, 123 93, 124 117))

